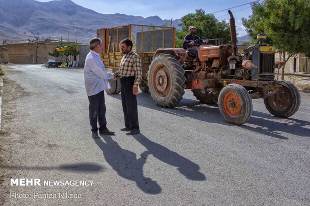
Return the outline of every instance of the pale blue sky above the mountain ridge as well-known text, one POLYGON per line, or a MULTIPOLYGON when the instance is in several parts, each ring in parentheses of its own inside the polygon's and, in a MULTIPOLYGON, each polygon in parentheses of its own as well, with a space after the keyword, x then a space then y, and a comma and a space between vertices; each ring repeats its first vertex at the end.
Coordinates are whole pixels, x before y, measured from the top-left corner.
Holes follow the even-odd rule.
MULTIPOLYGON (((50 0, 38 0, 46 2, 50 0)), ((179 19, 188 13, 194 13, 195 9, 202 8, 205 13, 213 13, 219 10, 231 8, 235 18, 238 35, 246 34, 241 18, 248 18, 252 14, 250 4, 254 0, 71 0, 85 8, 92 9, 98 13, 123 13, 134 16, 154 16, 161 19, 179 19), (240 6, 239 6, 240 5, 240 6)), ((228 10, 213 13, 217 20, 229 22, 228 10)))

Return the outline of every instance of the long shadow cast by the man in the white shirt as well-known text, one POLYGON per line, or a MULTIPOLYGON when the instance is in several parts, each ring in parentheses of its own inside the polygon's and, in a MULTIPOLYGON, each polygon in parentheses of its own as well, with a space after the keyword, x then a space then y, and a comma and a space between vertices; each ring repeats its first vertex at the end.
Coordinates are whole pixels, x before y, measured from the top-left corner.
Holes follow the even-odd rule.
POLYGON ((120 177, 134 181, 144 193, 158 194, 161 192, 156 181, 143 176, 142 169, 146 162, 144 158, 136 159, 135 153, 122 149, 110 136, 102 135, 102 138, 105 143, 101 139, 94 139, 94 142, 103 152, 106 162, 120 177))

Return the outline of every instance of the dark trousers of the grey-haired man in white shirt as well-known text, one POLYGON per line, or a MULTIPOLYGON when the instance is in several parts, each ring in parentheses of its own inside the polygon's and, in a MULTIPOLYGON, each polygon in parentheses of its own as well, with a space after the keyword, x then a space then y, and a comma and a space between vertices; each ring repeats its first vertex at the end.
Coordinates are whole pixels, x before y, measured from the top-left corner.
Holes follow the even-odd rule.
POLYGON ((99 123, 99 131, 106 129, 105 119, 105 103, 104 103, 104 91, 98 94, 88 96, 89 101, 89 122, 92 132, 97 132, 97 122, 99 123))

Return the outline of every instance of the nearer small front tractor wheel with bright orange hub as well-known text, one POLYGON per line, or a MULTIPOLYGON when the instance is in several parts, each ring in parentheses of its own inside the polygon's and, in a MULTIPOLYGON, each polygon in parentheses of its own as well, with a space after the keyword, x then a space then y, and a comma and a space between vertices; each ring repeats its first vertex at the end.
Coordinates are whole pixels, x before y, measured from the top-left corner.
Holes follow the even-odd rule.
POLYGON ((219 92, 218 109, 228 123, 240 125, 252 114, 252 100, 243 86, 228 84, 219 92))

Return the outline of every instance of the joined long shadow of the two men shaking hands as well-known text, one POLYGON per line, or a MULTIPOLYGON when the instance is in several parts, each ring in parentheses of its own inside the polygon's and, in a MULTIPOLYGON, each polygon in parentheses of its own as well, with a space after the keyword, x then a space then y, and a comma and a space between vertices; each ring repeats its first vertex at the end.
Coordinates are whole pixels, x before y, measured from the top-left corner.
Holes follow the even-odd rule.
POLYGON ((94 139, 94 141, 102 150, 106 162, 113 170, 120 177, 134 181, 144 193, 159 194, 161 192, 156 181, 143 176, 143 165, 148 155, 153 155, 158 160, 177 167, 177 170, 189 180, 205 180, 205 176, 198 172, 199 166, 190 160, 148 140, 142 134, 133 135, 133 137, 147 149, 138 158, 135 153, 122 149, 110 136, 102 135, 105 143, 101 139, 94 139))

